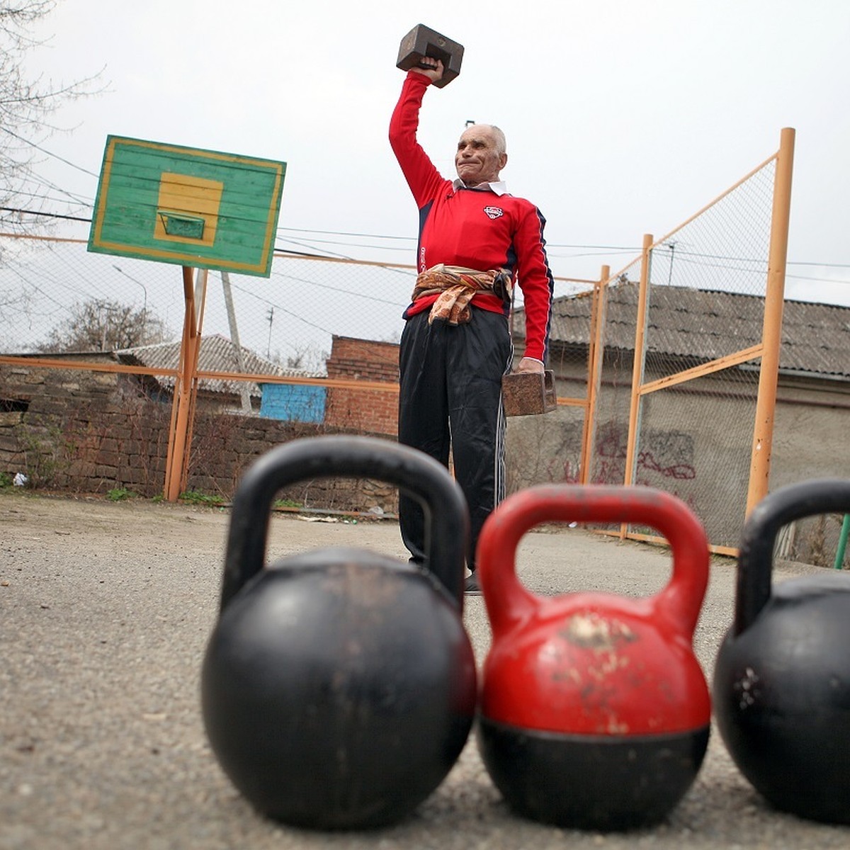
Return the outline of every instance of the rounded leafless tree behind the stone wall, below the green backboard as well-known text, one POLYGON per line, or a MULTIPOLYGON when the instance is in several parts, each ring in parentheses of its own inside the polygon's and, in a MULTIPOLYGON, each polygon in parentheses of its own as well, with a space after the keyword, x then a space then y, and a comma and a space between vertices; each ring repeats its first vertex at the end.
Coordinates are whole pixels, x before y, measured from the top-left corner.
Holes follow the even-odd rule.
POLYGON ((45 354, 67 351, 120 351, 164 342, 165 323, 147 309, 94 299, 71 308, 47 339, 37 346, 45 354))

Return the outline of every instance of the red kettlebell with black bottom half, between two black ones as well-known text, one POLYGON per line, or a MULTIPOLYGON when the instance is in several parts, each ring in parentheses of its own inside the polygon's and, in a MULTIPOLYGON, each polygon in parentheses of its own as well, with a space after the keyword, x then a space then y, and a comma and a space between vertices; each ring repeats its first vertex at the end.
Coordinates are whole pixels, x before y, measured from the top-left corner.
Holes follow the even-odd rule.
POLYGON ((659 822, 682 798, 711 721, 693 649, 708 558, 700 521, 649 487, 542 485, 490 514, 477 561, 493 643, 477 736, 515 812, 575 829, 626 830, 659 822), (654 527, 672 547, 669 583, 646 598, 536 596, 517 578, 517 547, 526 531, 556 520, 654 527))

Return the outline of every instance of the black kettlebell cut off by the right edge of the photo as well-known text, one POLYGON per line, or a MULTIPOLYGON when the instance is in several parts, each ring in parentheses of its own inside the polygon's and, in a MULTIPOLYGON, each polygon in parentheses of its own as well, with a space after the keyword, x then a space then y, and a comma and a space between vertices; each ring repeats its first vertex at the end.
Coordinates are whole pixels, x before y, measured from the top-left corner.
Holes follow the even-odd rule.
POLYGON ((850 823, 850 575, 824 571, 771 592, 774 542, 795 519, 850 513, 850 480, 769 494, 740 545, 735 612, 714 672, 720 733, 774 808, 850 823))

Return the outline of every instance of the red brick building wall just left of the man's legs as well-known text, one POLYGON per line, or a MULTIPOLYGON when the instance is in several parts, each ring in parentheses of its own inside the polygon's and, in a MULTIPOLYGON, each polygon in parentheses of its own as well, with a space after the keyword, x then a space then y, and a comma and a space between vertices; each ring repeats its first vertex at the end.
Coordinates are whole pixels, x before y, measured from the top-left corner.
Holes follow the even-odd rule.
POLYGON ((327 377, 392 383, 382 390, 328 388, 325 424, 394 437, 399 431, 399 346, 352 337, 333 337, 327 377))

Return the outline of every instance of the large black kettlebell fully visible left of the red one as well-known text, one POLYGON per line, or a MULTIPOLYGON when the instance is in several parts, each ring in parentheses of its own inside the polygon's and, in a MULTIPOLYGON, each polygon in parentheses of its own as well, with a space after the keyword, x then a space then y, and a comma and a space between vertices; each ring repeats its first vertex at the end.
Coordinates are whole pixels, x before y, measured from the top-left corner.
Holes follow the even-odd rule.
POLYGON ((201 702, 212 750, 260 812, 314 829, 388 825, 448 774, 477 702, 461 616, 468 523, 445 467, 384 439, 299 439, 248 469, 201 702), (425 567, 333 547, 263 569, 275 494, 332 475, 381 479, 420 501, 425 567))

